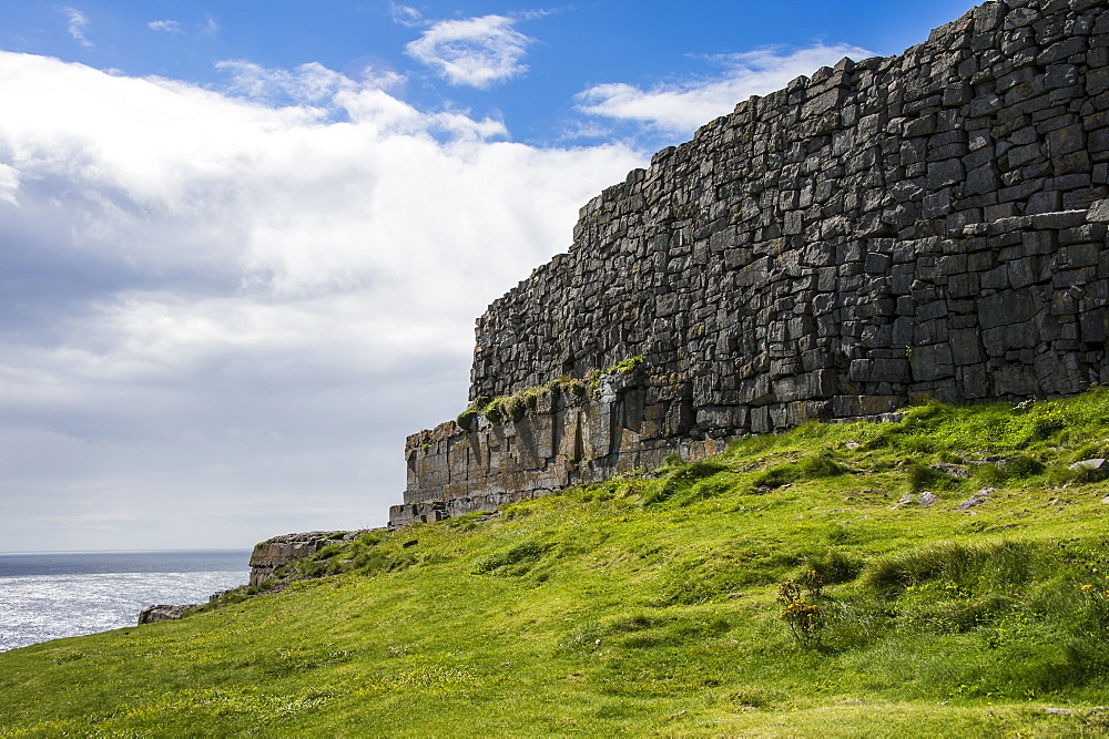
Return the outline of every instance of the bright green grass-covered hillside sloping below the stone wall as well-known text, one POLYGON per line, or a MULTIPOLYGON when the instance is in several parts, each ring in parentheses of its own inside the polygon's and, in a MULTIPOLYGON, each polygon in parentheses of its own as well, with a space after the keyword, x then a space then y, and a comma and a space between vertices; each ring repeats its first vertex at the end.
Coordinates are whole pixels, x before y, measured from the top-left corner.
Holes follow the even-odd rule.
POLYGON ((743 439, 0 654, 0 735, 1101 735, 1103 458, 1106 390, 743 439))

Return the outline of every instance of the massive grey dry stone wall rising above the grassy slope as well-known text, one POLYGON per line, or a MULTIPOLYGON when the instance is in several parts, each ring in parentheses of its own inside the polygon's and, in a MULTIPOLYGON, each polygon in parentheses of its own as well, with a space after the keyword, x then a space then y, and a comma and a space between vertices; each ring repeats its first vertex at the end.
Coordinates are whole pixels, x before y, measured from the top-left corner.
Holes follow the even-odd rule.
POLYGON ((471 399, 641 356, 623 400, 553 392, 515 423, 416 434, 394 513, 920 397, 1109 382, 1107 223, 1103 0, 988 2, 898 57, 798 78, 587 204, 570 252, 478 320, 471 399), (574 456, 574 433, 606 439, 574 456))

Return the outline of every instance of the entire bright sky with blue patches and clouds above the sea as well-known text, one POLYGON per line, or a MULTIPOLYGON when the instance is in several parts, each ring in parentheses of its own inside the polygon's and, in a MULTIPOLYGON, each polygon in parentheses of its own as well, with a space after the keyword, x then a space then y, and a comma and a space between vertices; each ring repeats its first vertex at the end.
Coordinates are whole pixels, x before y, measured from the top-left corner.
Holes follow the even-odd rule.
POLYGON ((384 525, 578 208, 973 4, 0 0, 0 551, 384 525))

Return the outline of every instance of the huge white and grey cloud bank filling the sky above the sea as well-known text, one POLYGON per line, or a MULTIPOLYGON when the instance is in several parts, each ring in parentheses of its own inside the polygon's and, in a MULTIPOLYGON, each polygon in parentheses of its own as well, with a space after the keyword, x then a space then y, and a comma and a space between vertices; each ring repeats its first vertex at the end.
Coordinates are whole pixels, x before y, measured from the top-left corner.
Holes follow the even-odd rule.
POLYGON ((6 548, 384 523, 404 437, 465 406, 475 317, 641 164, 388 78, 225 70, 235 95, 0 52, 6 548), (33 523, 60 507, 140 517, 33 523))

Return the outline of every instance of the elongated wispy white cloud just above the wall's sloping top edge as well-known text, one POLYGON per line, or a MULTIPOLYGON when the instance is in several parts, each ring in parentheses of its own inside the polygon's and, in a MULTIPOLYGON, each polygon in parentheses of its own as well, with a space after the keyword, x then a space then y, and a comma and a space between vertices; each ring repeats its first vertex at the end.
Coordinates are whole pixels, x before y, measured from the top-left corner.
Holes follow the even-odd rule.
POLYGON ((764 95, 813 70, 835 64, 844 57, 873 54, 848 44, 817 43, 784 52, 776 48, 715 58, 725 65, 722 75, 659 84, 649 90, 625 83, 599 84, 577 95, 578 109, 609 119, 634 121, 673 132, 691 132, 714 117, 730 113, 751 95, 764 95))

